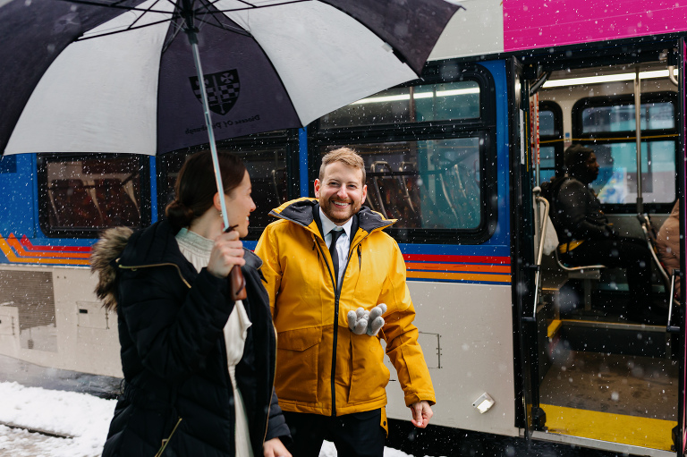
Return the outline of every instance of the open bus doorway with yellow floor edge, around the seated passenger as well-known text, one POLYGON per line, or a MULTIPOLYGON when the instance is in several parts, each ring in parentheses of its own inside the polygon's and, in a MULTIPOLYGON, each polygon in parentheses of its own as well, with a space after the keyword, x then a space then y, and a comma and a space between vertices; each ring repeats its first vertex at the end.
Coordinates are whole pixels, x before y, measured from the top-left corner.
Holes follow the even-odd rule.
MULTIPOLYGON (((569 146, 564 142, 564 138, 568 138, 564 133, 568 133, 570 142, 590 145, 597 148, 599 156, 606 153, 606 157, 615 159, 604 165, 609 176, 612 173, 624 173, 626 177, 632 174, 625 180, 633 180, 632 185, 623 182, 623 190, 627 190, 621 202, 623 207, 611 207, 610 204, 618 203, 615 201, 609 201, 607 207, 606 215, 614 217, 612 222, 616 226, 624 224, 621 226, 627 229, 626 233, 640 230, 632 192, 642 196, 638 199, 640 202, 642 199, 647 202, 645 211, 654 216, 655 229, 662 222, 660 218, 667 217, 669 209, 665 208, 672 207, 674 197, 681 198, 681 258, 687 255, 684 246, 687 227, 684 216, 687 214, 684 205, 687 189, 684 78, 687 48, 683 40, 675 39, 652 47, 641 45, 633 44, 641 51, 636 55, 621 47, 589 46, 548 60, 540 56, 530 60, 513 59, 507 67, 511 92, 511 247, 513 330, 516 332, 513 343, 516 402, 520 408, 516 426, 535 447, 537 442, 547 441, 629 455, 669 457, 687 454, 684 292, 679 302, 673 304, 672 318, 667 325, 668 310, 664 308, 660 309, 660 319, 653 321, 628 317, 629 284, 622 276, 622 268, 588 281, 573 268, 558 267, 555 251, 542 261, 538 249, 542 241, 535 230, 546 219, 546 216, 538 216, 534 209, 539 205, 533 201, 536 200, 532 189, 535 182, 528 141, 529 97, 538 93, 540 106, 551 104, 552 100, 563 106, 561 116, 567 120, 572 133, 559 129, 560 137, 548 140, 549 149, 554 149, 551 145, 569 146), (671 70, 678 68, 678 80, 668 80, 666 66, 671 70), (661 72, 663 80, 647 77, 644 81, 640 74, 648 71, 661 72), (604 79, 584 80, 589 75, 604 76, 604 79), (542 77, 551 84, 542 85, 537 92, 537 81, 542 77), (591 84, 595 85, 590 87, 591 84), (591 100, 598 102, 598 107, 588 104, 592 91, 595 96, 610 93, 617 97, 591 100), (616 121, 606 116, 599 121, 601 116, 592 114, 584 114, 585 118, 583 109, 589 106, 589 113, 615 110, 623 113, 617 116, 622 119, 616 121), (670 107, 666 110, 670 112, 666 118, 671 125, 669 131, 659 131, 649 124, 650 119, 660 119, 656 106, 670 107), (585 119, 587 124, 583 123, 585 119), (619 125, 621 122, 623 124, 619 125), (594 134, 588 135, 581 128, 584 125, 589 125, 589 131, 594 134), (618 140, 619 136, 623 138, 618 140), (657 144, 657 141, 663 143, 657 144), (657 165, 659 147, 666 150, 667 158, 663 162, 666 166, 663 167, 657 165), (640 182, 647 186, 640 186, 640 182), (668 190, 659 186, 655 187, 663 193, 652 190, 652 183, 666 183, 664 187, 668 190), (540 285, 542 275, 546 275, 546 282, 540 285), (616 277, 622 278, 624 289, 615 284, 616 277), (595 288, 589 297, 588 283, 595 288), (538 291, 542 292, 541 296, 538 291)), ((550 119, 556 117, 552 112, 549 110, 550 119)), ((551 131, 556 131, 556 123, 549 125, 551 131)), ((553 134, 548 133, 548 136, 553 134)), ((547 157, 553 162, 558 156, 549 150, 547 157)), ((556 172, 559 171, 556 168, 556 172)), ((545 179, 548 176, 541 181, 545 179)), ((599 189, 604 189, 605 184, 599 185, 599 189)), ((541 238, 543 240, 543 236, 541 238)), ((591 266, 587 268, 592 269, 591 266)), ((685 271, 684 260, 680 269, 685 271)), ((656 275, 652 287, 662 294, 660 297, 666 298, 657 300, 667 302, 670 294, 663 276, 660 282, 658 279, 656 275)), ((687 287, 684 277, 675 277, 675 280, 682 281, 684 291, 687 287)))

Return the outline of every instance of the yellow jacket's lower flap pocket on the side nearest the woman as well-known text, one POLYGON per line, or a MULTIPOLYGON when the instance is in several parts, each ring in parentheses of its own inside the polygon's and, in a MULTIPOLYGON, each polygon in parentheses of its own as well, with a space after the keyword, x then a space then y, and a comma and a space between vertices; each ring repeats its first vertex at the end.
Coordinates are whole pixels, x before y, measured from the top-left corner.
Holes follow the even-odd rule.
POLYGON ((318 401, 320 327, 280 332, 276 337, 276 395, 280 400, 318 401))

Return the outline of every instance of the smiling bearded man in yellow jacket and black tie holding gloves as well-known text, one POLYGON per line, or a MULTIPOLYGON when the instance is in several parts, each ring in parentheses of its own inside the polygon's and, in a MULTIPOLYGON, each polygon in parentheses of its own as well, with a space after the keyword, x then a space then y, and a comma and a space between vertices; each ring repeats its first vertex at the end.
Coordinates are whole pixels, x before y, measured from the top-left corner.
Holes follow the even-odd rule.
POLYGON ((272 210, 278 220, 256 248, 277 331, 276 393, 299 457, 317 457, 324 439, 339 455, 383 455, 381 338, 412 423, 427 427, 433 414, 403 255, 383 232, 395 221, 362 207, 366 195, 362 158, 350 148, 329 152, 316 199, 272 210))

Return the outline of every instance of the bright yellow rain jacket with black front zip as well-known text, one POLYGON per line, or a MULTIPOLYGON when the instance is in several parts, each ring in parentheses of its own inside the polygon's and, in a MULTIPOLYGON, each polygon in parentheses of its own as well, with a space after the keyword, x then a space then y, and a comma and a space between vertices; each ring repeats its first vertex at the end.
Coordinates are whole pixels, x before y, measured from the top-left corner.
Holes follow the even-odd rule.
MULTIPOLYGON (((436 401, 412 324, 415 309, 405 284, 398 244, 382 229, 394 224, 362 207, 353 216, 352 241, 340 292, 332 258, 313 217, 317 199, 296 199, 272 212, 255 252, 263 260, 277 331, 276 393, 283 410, 344 415, 386 405, 389 370, 396 368, 405 404, 436 401), (388 309, 377 336, 353 334, 347 314, 379 303, 388 309)), ((386 425, 386 424, 385 424, 386 425)))

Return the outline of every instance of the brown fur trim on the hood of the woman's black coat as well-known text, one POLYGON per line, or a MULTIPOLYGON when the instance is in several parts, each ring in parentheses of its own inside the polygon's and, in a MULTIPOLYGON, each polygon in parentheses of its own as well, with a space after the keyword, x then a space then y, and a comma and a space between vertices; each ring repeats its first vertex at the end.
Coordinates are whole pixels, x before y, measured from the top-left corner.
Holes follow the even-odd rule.
POLYGON ((133 231, 129 227, 114 227, 106 230, 100 240, 93 245, 90 255, 90 270, 98 275, 96 295, 103 300, 103 306, 109 311, 116 311, 116 277, 117 268, 114 260, 122 255, 133 231))

